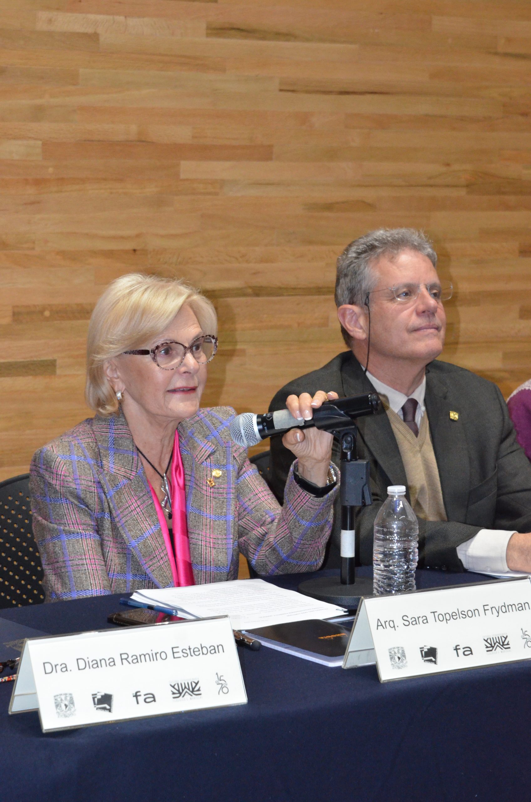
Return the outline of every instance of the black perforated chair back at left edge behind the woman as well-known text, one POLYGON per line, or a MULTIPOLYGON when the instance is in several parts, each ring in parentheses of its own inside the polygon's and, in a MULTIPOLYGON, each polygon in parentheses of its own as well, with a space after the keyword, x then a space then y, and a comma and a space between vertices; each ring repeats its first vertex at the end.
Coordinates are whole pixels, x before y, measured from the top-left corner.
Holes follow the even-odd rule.
POLYGON ((30 475, 0 482, 0 610, 44 602, 43 565, 31 530, 30 475))

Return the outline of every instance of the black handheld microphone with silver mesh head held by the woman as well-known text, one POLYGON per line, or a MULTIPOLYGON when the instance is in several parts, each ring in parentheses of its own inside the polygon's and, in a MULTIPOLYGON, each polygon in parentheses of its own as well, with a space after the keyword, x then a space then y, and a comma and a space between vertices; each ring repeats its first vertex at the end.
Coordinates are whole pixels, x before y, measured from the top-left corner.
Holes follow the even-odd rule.
POLYGON ((294 418, 287 409, 267 412, 266 415, 243 412, 230 424, 230 436, 239 446, 250 448, 266 437, 283 435, 294 428, 305 429, 314 426, 323 431, 341 431, 351 427, 356 418, 373 415, 379 406, 378 393, 365 393, 348 399, 326 401, 322 407, 314 409, 314 417, 310 420, 294 418))

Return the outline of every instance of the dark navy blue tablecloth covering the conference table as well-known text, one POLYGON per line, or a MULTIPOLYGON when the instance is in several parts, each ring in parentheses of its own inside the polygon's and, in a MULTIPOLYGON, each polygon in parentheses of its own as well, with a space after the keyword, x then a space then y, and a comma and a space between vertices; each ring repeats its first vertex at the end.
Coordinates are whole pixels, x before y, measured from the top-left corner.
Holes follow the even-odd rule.
MULTIPOLYGON (((417 586, 471 580, 419 572, 417 586)), ((51 634, 101 629, 118 598, 0 617, 51 634)), ((0 685, 1 802, 531 797, 529 662, 380 684, 375 666, 344 671, 266 648, 239 654, 245 706, 51 735, 37 713, 7 715, 12 686, 0 685)))

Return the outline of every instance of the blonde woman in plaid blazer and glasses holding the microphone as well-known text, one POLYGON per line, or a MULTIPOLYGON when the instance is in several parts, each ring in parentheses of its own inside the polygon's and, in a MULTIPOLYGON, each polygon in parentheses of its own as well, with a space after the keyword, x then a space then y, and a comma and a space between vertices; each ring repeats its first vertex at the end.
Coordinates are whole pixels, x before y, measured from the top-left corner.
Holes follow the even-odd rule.
MULTIPOLYGON (((95 417, 31 462, 47 601, 235 579, 239 553, 261 574, 321 565, 331 435, 284 435, 298 459, 281 508, 229 437, 233 409, 200 408, 216 350, 212 304, 178 280, 133 273, 99 299, 87 340, 95 417)), ((324 400, 293 395, 287 407, 307 419, 324 400)))

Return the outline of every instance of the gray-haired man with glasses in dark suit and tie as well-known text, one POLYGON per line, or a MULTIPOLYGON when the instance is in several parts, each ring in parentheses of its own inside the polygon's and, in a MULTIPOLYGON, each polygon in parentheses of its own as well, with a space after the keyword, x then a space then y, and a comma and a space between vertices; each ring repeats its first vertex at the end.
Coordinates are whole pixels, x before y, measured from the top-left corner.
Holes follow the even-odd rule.
MULTIPOLYGON (((531 571, 531 465, 498 388, 434 361, 444 345, 444 301, 452 297, 436 264, 432 244, 413 229, 379 229, 347 245, 335 302, 349 350, 282 387, 270 411, 318 387, 340 397, 381 396, 381 414, 358 420, 359 458, 370 460, 373 497, 357 519, 363 564, 372 562, 387 486, 405 484, 419 519, 420 567, 531 571)), ((335 442, 333 458, 338 463, 335 442)), ((273 438, 279 498, 292 460, 273 438)), ((326 567, 339 565, 339 524, 336 508, 326 567)))

